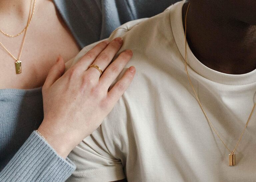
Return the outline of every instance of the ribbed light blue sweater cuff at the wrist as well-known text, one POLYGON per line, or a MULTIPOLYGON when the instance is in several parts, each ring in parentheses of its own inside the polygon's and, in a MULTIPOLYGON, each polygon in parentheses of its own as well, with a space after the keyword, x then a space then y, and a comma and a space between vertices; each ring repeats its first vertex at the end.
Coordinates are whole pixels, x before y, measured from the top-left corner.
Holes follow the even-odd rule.
POLYGON ((0 181, 65 181, 75 168, 34 131, 0 172, 0 181))

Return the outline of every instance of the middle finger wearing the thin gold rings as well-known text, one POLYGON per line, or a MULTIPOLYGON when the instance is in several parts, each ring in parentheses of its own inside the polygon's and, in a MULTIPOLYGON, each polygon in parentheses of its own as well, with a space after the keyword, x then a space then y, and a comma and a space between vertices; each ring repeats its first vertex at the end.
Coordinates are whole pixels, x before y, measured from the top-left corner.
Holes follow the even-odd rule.
MULTIPOLYGON (((121 37, 115 38, 113 41, 109 43, 109 45, 98 55, 96 60, 92 63, 101 68, 102 71, 106 69, 111 60, 114 58, 116 53, 119 51, 123 44, 123 39, 121 37)), ((99 78, 100 71, 94 67, 90 67, 88 72, 92 74, 93 77, 99 78)))

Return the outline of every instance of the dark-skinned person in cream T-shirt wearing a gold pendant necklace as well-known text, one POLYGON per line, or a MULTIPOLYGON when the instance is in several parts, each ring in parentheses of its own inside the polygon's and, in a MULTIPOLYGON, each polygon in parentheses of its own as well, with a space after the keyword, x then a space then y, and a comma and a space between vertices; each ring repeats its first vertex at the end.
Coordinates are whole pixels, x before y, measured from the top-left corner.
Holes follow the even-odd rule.
POLYGON ((67 181, 255 181, 255 8, 184 0, 117 28, 136 75, 67 181))

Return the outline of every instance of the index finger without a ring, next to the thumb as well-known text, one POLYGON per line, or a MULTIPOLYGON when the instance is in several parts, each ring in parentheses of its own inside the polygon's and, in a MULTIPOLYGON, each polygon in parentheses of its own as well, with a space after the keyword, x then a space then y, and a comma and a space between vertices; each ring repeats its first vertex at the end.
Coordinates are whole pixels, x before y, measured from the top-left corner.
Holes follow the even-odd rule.
POLYGON ((103 41, 89 50, 80 60, 74 65, 73 68, 84 72, 92 64, 92 62, 98 57, 98 55, 108 46, 108 41, 103 41))

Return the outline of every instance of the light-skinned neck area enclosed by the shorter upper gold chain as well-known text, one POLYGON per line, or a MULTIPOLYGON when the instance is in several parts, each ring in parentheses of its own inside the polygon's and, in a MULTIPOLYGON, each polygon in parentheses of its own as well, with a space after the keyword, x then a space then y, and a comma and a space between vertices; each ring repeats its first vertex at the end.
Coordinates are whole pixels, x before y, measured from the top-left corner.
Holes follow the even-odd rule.
POLYGON ((0 29, 15 34, 26 26, 31 0, 0 0, 0 29))

